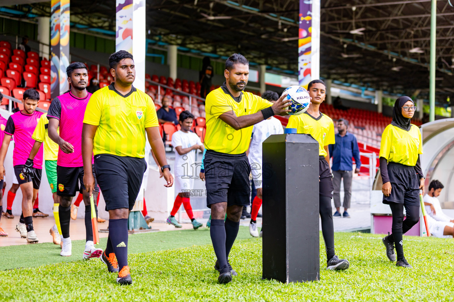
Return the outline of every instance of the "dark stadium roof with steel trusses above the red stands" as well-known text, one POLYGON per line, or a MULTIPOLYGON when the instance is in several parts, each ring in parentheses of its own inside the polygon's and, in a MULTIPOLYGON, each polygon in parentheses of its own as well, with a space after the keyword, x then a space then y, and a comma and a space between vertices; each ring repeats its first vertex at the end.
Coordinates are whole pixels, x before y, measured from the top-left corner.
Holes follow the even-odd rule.
MULTIPOLYGON (((451 0, 454 2, 453 0, 451 0)), ((15 5, 50 15, 50 1, 15 5)), ((12 8, 12 7, 11 7, 12 8)), ((147 0, 148 38, 213 58, 298 70, 299 0, 147 0)), ((115 0, 71 0, 78 30, 112 35, 115 0)), ((437 1, 436 101, 454 97, 454 7, 437 1)), ((430 0, 322 0, 323 78, 428 99, 430 0)))

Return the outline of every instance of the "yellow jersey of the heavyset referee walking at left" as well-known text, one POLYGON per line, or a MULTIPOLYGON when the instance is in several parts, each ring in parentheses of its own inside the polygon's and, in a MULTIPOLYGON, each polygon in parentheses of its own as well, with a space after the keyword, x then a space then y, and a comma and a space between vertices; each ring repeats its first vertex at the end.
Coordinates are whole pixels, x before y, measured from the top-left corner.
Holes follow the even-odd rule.
POLYGON ((114 83, 96 91, 85 109, 84 123, 98 126, 93 153, 145 157, 145 128, 157 127, 158 116, 150 96, 134 86, 125 96, 114 83))

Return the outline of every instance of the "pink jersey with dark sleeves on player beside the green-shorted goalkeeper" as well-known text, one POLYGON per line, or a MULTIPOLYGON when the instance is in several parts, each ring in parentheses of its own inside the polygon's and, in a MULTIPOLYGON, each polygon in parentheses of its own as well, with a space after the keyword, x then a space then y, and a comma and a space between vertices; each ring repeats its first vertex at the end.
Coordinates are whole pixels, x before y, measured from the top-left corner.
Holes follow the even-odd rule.
MULTIPOLYGON (((32 115, 27 115, 21 111, 17 111, 11 115, 6 122, 5 134, 14 135, 14 151, 13 151, 13 166, 23 165, 30 155, 31 148, 35 144, 35 139, 32 139, 33 131, 38 125, 39 117, 42 112, 35 111, 32 115)), ((1 127, 1 126, 0 126, 1 127)), ((33 160, 33 168, 42 169, 43 165, 43 145, 39 147, 33 160)))

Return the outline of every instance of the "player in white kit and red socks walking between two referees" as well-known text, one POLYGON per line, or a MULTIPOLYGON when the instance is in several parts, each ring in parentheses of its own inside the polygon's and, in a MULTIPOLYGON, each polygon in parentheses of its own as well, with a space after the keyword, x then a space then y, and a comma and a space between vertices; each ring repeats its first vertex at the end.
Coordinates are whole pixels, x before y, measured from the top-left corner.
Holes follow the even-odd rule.
POLYGON ((197 134, 191 132, 194 115, 185 110, 180 113, 179 123, 181 130, 172 135, 172 146, 175 149, 175 192, 178 194, 173 203, 173 209, 167 218, 169 225, 175 225, 181 228, 181 225, 175 219, 175 214, 183 203, 184 209, 192 221, 192 227, 197 230, 203 226, 194 219, 192 207, 189 201, 191 190, 194 188, 194 179, 196 176, 196 150, 203 152, 203 144, 197 134))

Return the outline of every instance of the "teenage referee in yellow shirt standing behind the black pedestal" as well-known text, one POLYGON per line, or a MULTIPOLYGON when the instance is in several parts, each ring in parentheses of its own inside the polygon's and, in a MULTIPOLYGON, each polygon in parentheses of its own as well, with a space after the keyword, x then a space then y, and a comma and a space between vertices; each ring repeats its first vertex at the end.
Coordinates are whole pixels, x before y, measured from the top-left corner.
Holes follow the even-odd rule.
POLYGON ((320 112, 320 104, 325 100, 326 86, 322 80, 313 80, 307 85, 311 105, 300 115, 292 115, 287 128, 296 128, 296 133, 311 134, 319 144, 319 213, 321 232, 326 247, 326 269, 341 270, 350 267, 346 259, 339 259, 334 251, 334 225, 331 211, 333 180, 330 169, 329 144, 335 144, 333 120, 320 112))

